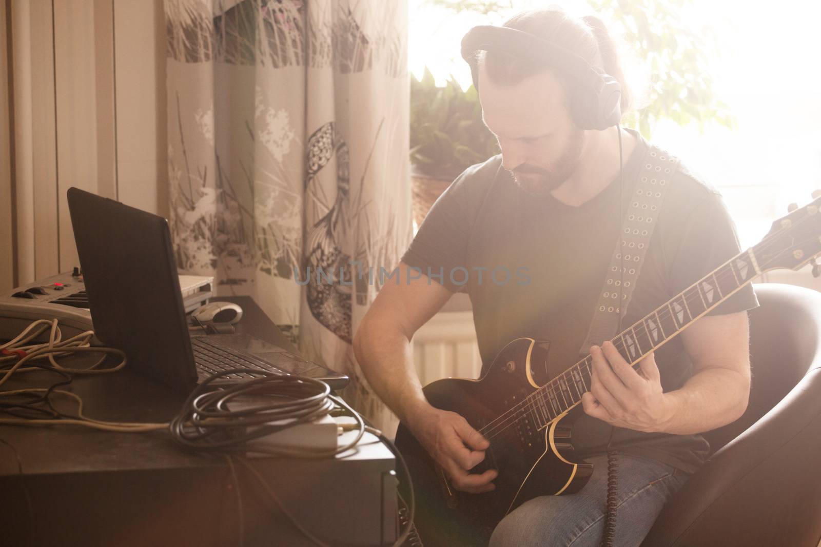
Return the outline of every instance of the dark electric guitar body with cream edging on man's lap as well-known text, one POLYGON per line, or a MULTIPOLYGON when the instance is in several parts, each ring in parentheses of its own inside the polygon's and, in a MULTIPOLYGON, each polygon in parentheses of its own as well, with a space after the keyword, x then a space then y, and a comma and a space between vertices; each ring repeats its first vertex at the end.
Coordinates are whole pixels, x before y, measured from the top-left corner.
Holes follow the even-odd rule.
POLYGON ((488 427, 484 435, 490 448, 471 472, 497 469, 495 490, 478 495, 454 490, 433 458, 400 424, 396 444, 410 470, 415 522, 424 545, 482 545, 502 517, 525 501, 571 494, 588 481, 593 465, 573 461, 571 425, 577 408, 547 426, 539 423, 534 408, 511 411, 539 387, 530 374, 531 362, 539 358, 539 344, 544 343, 513 340, 479 381, 446 379, 424 387, 433 407, 465 417, 479 431, 488 427), (534 413, 533 419, 528 413, 534 413))

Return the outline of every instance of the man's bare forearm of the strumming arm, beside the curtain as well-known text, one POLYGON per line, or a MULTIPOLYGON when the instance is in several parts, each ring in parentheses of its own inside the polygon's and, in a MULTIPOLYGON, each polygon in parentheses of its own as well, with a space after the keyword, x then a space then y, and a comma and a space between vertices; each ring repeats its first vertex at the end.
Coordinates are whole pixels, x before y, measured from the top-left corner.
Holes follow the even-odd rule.
POLYGON ((402 422, 427 403, 413 364, 410 340, 401 330, 369 328, 363 321, 354 353, 371 388, 402 422))

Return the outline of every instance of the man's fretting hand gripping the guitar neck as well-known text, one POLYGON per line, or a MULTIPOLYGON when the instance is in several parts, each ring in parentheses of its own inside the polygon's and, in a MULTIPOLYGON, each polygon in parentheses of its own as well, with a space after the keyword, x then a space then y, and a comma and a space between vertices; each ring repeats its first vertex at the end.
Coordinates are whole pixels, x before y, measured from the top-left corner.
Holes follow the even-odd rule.
POLYGON ((609 341, 592 346, 590 354, 593 377, 590 390, 581 397, 585 413, 612 426, 664 431, 675 409, 671 397, 663 393, 654 353, 640 361, 638 372, 609 341))

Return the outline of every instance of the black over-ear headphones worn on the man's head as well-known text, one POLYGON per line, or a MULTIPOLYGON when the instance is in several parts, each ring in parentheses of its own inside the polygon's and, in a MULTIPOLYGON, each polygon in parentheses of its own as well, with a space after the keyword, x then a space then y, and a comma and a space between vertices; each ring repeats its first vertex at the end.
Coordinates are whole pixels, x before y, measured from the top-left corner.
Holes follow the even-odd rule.
POLYGON ((479 25, 461 42, 461 55, 470 65, 473 84, 479 89, 480 51, 506 52, 515 57, 542 62, 571 77, 567 89, 571 116, 583 130, 605 130, 621 121, 621 84, 585 59, 534 34, 507 26, 479 25))

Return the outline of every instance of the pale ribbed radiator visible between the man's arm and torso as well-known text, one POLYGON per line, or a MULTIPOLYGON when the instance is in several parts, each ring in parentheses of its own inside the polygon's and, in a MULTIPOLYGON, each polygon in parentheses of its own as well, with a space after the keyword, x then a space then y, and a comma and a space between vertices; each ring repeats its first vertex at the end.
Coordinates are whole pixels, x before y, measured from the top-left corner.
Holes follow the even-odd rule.
POLYGON ((482 359, 472 312, 439 312, 413 337, 416 373, 422 385, 440 378, 479 377, 482 359))

